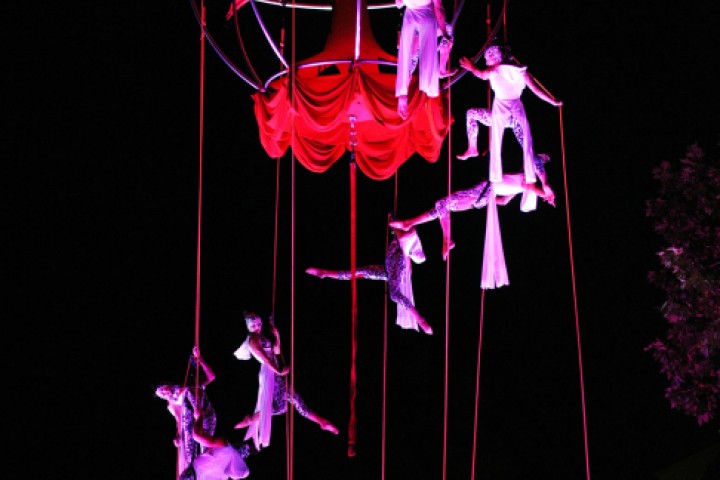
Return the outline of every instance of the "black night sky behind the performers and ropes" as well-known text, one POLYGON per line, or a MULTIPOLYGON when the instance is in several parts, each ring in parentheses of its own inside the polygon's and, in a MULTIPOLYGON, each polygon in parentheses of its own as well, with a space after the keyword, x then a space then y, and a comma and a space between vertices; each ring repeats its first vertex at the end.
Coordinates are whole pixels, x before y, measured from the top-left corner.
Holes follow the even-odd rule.
MULTIPOLYGON (((558 207, 542 203, 522 214, 515 200, 500 212, 511 284, 485 296, 477 472, 584 475, 569 198, 592 475, 652 478, 717 441, 717 424, 700 428, 669 409, 658 367, 643 352, 664 329, 662 297, 646 282, 660 241, 644 202, 655 188, 654 165, 680 158, 694 142, 716 151, 720 98, 711 72, 720 7, 542 3, 510 2, 508 40, 565 102, 568 189, 558 110, 526 92, 536 150, 553 157, 558 207)), ((218 21, 227 2, 207 4, 218 39, 237 54, 232 31, 218 21)), ((41 464, 37 473, 57 478, 172 478, 173 422, 153 390, 183 380, 194 338, 197 24, 188 2, 168 0, 9 8, 8 18, 19 21, 6 32, 3 104, 11 125, 0 148, 11 167, 3 189, 10 286, 3 425, 18 447, 13 460, 41 464)), ((454 63, 482 45, 484 11, 484 2, 467 2, 454 63)), ((371 14, 388 49, 396 14, 371 14)), ((311 53, 329 22, 317 15, 321 21, 298 32, 298 48, 311 53)), ((261 44, 250 42, 251 54, 261 44)), ((200 345, 218 374, 209 394, 220 428, 231 434, 255 402, 257 365, 232 356, 245 337, 240 314, 266 315, 272 300, 275 163, 259 146, 252 93, 208 48, 200 345)), ((466 76, 452 95, 454 154, 466 145, 464 111, 484 104, 485 84, 466 76)), ((400 169, 400 217, 444 195, 447 143, 436 164, 413 157, 400 169)), ((276 312, 286 356, 289 166, 286 157, 276 312)), ((453 189, 479 182, 486 169, 485 160, 454 161, 453 189)), ((348 265, 347 166, 323 175, 298 166, 295 174, 295 384, 341 429, 333 437, 295 417, 296 478, 380 478, 383 286, 359 283, 359 455, 348 459, 349 285, 303 273, 348 265)), ((392 181, 359 178, 358 262, 382 260, 392 201, 392 181)), ((437 223, 418 231, 428 261, 414 268, 415 298, 436 334, 395 327, 389 305, 390 478, 442 473, 445 264, 437 223)), ((453 216, 448 478, 470 472, 483 232, 484 212, 453 216)), ((277 418, 273 444, 249 461, 251 478, 282 478, 284 435, 277 418)))

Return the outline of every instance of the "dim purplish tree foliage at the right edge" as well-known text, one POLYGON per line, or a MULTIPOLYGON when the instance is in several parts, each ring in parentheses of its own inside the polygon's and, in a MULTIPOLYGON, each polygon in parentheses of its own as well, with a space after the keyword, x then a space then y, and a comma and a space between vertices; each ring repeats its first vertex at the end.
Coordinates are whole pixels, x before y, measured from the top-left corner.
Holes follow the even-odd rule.
POLYGON ((667 296, 660 310, 668 329, 647 350, 668 380, 671 407, 703 424, 720 398, 720 158, 693 145, 653 178, 659 191, 646 215, 665 247, 648 279, 667 296))

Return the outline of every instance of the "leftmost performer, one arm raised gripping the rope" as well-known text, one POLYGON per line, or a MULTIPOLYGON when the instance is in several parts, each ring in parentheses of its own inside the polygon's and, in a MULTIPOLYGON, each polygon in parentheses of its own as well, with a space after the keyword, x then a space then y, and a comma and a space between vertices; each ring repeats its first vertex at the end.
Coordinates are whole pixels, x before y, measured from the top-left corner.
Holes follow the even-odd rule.
POLYGON ((213 435, 217 426, 215 409, 205 391, 205 387, 215 380, 215 373, 203 360, 200 349, 193 347, 190 357, 190 373, 187 385, 162 384, 155 390, 155 395, 167 402, 167 408, 175 418, 175 438, 173 443, 178 449, 178 475, 192 467, 193 461, 200 454, 200 445, 193 438, 193 430, 200 429, 207 435, 213 435), (200 367, 199 381, 195 382, 194 371, 200 367), (196 392, 197 390, 197 392, 196 392), (197 393, 197 395, 196 395, 197 393), (195 428, 195 417, 201 416, 201 423, 195 428))

